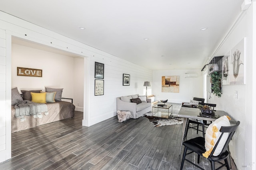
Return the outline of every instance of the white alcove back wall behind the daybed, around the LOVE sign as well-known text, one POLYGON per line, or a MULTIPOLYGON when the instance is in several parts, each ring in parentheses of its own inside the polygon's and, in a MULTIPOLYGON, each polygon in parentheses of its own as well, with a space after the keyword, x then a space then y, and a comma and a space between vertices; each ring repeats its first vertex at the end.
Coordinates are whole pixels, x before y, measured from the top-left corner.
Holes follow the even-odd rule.
POLYGON ((12 87, 43 91, 45 87, 63 88, 63 98, 74 98, 73 82, 73 57, 12 44, 12 87), (42 77, 17 76, 17 67, 42 69, 42 77))

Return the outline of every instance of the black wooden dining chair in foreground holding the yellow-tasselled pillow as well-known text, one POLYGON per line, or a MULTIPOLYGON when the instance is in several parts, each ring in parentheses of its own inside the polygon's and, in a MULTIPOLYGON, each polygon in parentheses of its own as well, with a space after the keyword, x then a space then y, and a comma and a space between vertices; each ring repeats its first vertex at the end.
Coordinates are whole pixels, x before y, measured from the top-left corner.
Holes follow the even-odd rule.
MULTIPOLYGON (((212 170, 215 170, 215 162, 218 162, 218 163, 221 164, 221 166, 219 168, 217 168, 216 170, 218 170, 218 169, 220 169, 224 166, 226 166, 227 170, 230 170, 229 165, 228 165, 229 152, 228 152, 227 148, 228 148, 228 144, 229 144, 232 136, 234 135, 234 133, 235 133, 239 124, 240 124, 240 121, 237 121, 236 125, 222 126, 220 128, 220 132, 221 132, 220 138, 216 142, 216 145, 214 146, 214 148, 212 149, 212 152, 210 153, 210 155, 207 158, 211 162, 212 170), (219 144, 219 142, 220 142, 224 133, 229 133, 228 138, 226 140, 226 143, 225 143, 222 151, 220 152, 220 154, 218 156, 213 156, 213 153, 214 153, 216 147, 218 146, 218 144, 219 144), (224 160, 224 162, 225 162, 224 164, 222 162, 220 162, 222 160, 224 160)), ((203 156, 202 154, 204 152, 206 152, 204 144, 205 144, 205 139, 203 137, 196 137, 196 138, 190 139, 190 140, 185 141, 185 142, 182 143, 182 145, 184 145, 185 148, 184 148, 184 152, 183 152, 183 156, 182 156, 182 162, 181 162, 181 165, 180 165, 180 170, 182 170, 185 160, 187 162, 193 164, 194 166, 200 168, 201 170, 204 170, 203 168, 201 168, 197 164, 194 164, 190 160, 186 159, 186 156, 188 154, 191 154, 191 153, 195 152, 196 154, 198 154, 197 163, 199 164, 200 156, 203 156), (191 152, 187 153, 187 150, 191 150, 191 152)))

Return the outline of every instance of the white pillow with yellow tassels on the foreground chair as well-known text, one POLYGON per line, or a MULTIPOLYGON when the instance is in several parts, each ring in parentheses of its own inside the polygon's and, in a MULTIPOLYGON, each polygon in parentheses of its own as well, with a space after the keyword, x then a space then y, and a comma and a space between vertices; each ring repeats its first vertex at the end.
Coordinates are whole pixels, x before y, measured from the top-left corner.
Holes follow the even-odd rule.
MULTIPOLYGON (((221 132, 220 128, 222 126, 230 126, 230 117, 228 116, 222 116, 213 123, 209 125, 209 127, 206 129, 206 134, 205 134, 205 149, 206 152, 203 153, 203 156, 205 158, 208 158, 210 153, 212 152, 212 149, 214 148, 216 142, 220 138, 221 132)), ((220 152, 222 151, 226 140, 228 139, 229 133, 224 133, 220 139, 220 142, 218 143, 217 148, 215 149, 213 156, 218 156, 220 152)))

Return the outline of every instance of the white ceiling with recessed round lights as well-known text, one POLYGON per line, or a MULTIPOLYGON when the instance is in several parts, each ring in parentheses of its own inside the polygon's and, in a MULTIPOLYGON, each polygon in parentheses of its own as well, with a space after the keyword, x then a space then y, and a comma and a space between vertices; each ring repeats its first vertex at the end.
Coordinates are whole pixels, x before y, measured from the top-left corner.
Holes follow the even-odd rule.
POLYGON ((242 2, 1 0, 0 11, 151 70, 201 69, 238 17, 242 2))

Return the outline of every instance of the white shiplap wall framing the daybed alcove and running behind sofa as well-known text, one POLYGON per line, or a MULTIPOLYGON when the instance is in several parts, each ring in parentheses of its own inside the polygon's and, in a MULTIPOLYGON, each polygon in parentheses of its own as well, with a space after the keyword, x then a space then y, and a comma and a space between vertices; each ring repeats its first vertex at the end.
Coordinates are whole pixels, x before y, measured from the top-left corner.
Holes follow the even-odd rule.
MULTIPOLYGON (((74 53, 84 58, 84 120, 83 125, 93 125, 116 115, 116 97, 130 94, 144 94, 144 81, 152 81, 152 71, 142 68, 136 64, 124 61, 82 44, 78 41, 64 37, 58 33, 39 27, 27 21, 21 20, 14 16, 10 16, 4 12, 0 12, 0 29, 6 30, 0 32, 0 38, 8 36, 6 41, 6 54, 2 54, 6 58, 5 64, 0 63, 0 96, 1 107, 0 111, 0 128, 3 129, 6 137, 3 143, 2 151, 0 151, 0 162, 11 157, 11 137, 10 137, 10 118, 5 118, 5 115, 10 115, 10 91, 11 91, 11 36, 33 41, 49 47, 54 47, 63 51, 74 53), (104 63, 104 95, 94 96, 94 62, 104 63), (6 68, 5 68, 6 67, 6 68), (5 70, 10 73, 5 73, 5 70), (130 74, 130 86, 122 86, 123 73, 130 74), (2 74, 0 74, 2 75, 2 74), (6 78, 3 78, 6 76, 6 78), (3 97, 6 96, 6 97, 3 97), (5 108, 5 109, 4 109, 5 108)), ((4 41, 4 40, 2 40, 4 41)), ((1 54, 2 52, 0 52, 1 54)), ((3 58, 0 59, 1 62, 3 58)), ((72 83, 72 82, 71 82, 72 83)), ((82 92, 81 92, 82 93, 82 92)), ((82 120, 81 120, 82 121, 82 120)), ((4 136, 4 134, 2 135, 4 136)), ((1 140, 2 141, 2 140, 1 140)))

